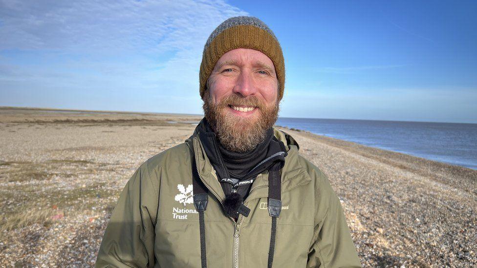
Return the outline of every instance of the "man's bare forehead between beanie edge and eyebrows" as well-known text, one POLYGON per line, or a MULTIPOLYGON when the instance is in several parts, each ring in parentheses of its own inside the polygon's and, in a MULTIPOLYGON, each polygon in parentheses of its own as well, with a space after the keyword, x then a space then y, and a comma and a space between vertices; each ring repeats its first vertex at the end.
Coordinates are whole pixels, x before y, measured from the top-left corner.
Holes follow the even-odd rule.
POLYGON ((224 62, 230 62, 237 65, 264 63, 271 68, 274 68, 272 60, 270 60, 267 55, 258 50, 249 48, 236 48, 228 51, 218 59, 216 67, 224 62))

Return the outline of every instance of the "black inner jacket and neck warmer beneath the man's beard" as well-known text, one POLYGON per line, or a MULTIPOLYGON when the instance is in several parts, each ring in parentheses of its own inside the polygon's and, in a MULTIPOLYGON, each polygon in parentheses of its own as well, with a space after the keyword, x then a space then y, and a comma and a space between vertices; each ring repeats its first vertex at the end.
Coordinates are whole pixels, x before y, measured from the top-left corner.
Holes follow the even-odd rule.
POLYGON ((229 151, 220 144, 205 117, 199 125, 200 141, 216 170, 225 196, 237 192, 245 200, 257 175, 271 168, 281 169, 285 165, 286 148, 273 135, 273 128, 267 130, 264 141, 255 149, 238 153, 229 151))

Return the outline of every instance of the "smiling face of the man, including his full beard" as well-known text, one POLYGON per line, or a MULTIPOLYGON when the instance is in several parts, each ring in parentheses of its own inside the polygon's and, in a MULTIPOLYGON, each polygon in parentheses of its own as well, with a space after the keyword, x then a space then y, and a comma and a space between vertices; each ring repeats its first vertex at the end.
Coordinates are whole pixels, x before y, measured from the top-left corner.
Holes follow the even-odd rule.
POLYGON ((280 109, 272 60, 254 49, 225 53, 207 81, 203 109, 226 149, 254 149, 277 121, 280 109))

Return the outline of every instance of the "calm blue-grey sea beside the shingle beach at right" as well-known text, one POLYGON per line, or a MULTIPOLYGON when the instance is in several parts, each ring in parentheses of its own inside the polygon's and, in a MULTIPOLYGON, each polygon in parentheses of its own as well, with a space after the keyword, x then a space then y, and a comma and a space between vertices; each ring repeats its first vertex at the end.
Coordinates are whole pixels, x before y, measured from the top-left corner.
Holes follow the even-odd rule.
POLYGON ((280 117, 276 125, 477 169, 477 124, 280 117))

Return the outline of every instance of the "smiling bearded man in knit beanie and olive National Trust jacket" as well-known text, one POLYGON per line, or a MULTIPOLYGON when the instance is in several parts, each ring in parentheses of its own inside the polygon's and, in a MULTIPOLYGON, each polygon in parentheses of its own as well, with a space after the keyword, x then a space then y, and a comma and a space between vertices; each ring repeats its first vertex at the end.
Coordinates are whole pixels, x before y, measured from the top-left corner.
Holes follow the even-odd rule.
POLYGON ((205 117, 132 175, 96 267, 360 267, 327 177, 273 127, 284 78, 262 21, 217 27, 200 66, 205 117))

